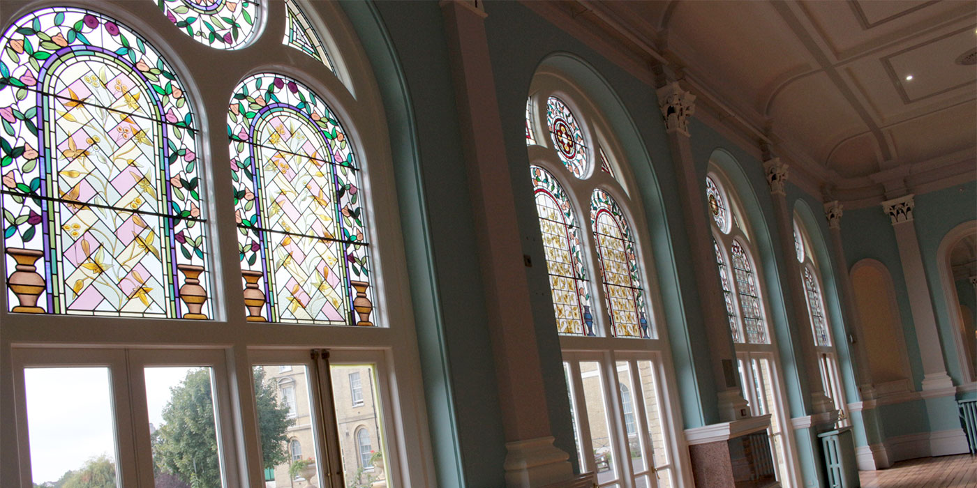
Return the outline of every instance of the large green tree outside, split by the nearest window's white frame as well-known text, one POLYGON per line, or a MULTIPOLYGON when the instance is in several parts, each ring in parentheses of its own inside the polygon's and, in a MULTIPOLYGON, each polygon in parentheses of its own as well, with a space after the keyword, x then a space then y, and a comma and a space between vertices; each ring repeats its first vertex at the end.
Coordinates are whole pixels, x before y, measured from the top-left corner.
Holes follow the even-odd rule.
MULTIPOLYGON (((294 420, 276 400, 275 386, 266 384, 262 368, 254 369, 254 382, 263 461, 265 467, 274 467, 288 459, 286 430, 294 420)), ((156 469, 176 475, 192 488, 220 488, 210 370, 193 370, 180 386, 171 388, 162 416, 163 426, 152 434, 156 469)))

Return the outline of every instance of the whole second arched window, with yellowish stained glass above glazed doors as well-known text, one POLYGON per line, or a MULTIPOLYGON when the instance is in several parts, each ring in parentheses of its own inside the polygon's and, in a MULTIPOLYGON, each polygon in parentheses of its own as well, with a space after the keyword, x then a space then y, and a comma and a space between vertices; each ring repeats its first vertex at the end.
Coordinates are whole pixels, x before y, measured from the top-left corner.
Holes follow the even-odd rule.
POLYGON ((654 273, 639 246, 648 234, 640 192, 629 191, 626 161, 598 108, 548 69, 533 78, 526 134, 580 469, 596 472, 601 486, 650 486, 656 476, 674 486, 677 427, 664 401, 667 345, 645 286, 654 273), (548 137, 535 132, 543 120, 548 137))

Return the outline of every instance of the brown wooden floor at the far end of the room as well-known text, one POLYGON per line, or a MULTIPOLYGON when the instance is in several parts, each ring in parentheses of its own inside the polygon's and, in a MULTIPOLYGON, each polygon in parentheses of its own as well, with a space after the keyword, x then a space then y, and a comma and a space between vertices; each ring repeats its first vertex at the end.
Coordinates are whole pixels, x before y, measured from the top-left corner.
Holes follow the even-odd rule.
POLYGON ((961 454, 901 461, 859 471, 862 488, 977 488, 977 457, 961 454))

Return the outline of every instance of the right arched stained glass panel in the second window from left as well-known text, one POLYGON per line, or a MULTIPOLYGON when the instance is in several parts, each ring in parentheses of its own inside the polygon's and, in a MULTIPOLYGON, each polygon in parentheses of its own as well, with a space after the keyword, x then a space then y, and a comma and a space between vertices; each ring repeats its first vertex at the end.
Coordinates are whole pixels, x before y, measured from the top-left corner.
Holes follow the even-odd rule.
POLYGON ((590 225, 614 335, 650 338, 634 236, 614 197, 599 188, 590 198, 590 225))

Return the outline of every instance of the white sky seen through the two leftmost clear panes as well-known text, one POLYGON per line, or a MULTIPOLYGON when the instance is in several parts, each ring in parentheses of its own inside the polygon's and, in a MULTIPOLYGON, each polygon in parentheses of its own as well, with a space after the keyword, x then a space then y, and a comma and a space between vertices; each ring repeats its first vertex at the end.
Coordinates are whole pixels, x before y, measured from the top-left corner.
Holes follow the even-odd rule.
MULTIPOLYGON (((170 388, 191 369, 146 369, 150 424, 162 425, 170 388)), ((103 454, 114 461, 108 368, 25 368, 23 376, 34 483, 57 481, 64 471, 103 454)))

